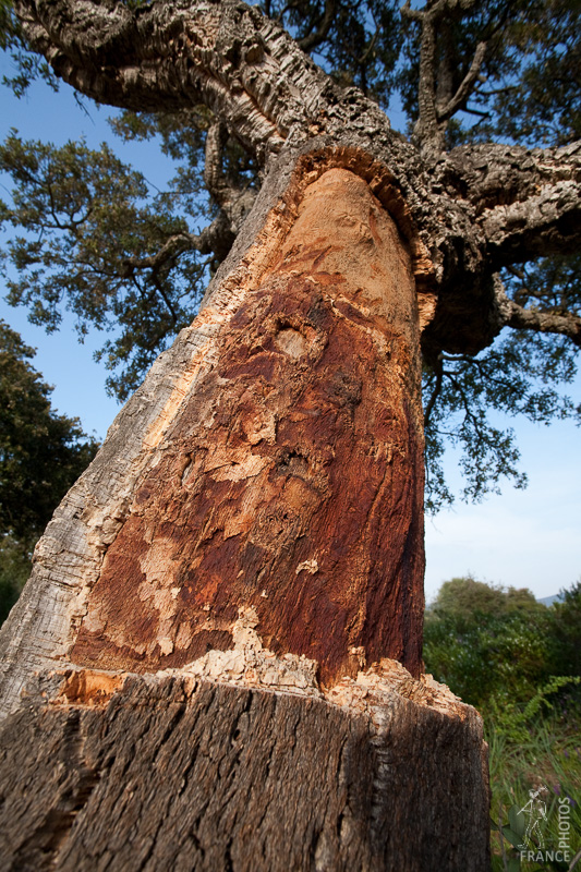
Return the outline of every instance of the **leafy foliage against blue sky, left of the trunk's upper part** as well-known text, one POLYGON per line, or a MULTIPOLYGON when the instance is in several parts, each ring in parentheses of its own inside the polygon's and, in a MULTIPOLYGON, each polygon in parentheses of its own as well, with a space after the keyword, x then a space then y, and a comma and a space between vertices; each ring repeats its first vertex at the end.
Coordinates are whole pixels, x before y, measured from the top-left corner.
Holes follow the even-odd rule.
POLYGON ((190 247, 190 229, 175 209, 187 194, 148 198, 144 177, 107 145, 83 141, 62 148, 23 142, 13 131, 0 146, 0 170, 10 173, 12 204, 0 202, 0 222, 24 231, 2 255, 12 305, 24 304, 34 324, 58 328, 62 306, 89 327, 114 330, 98 359, 120 372, 108 388, 125 399, 169 339, 191 323, 209 262, 190 247), (162 259, 155 255, 173 240, 162 259), (16 270, 17 278, 12 278, 16 270))

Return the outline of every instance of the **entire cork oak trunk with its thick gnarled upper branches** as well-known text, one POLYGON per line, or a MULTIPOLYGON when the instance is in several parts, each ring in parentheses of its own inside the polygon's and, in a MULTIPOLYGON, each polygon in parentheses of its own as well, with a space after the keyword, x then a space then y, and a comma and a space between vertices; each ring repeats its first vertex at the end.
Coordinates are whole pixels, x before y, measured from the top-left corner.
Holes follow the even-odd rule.
POLYGON ((15 0, 77 90, 209 109, 215 243, 253 199, 221 178, 223 131, 265 182, 0 632, 8 868, 487 868, 482 722, 420 675, 420 336, 432 360, 505 325, 579 343, 577 315, 495 276, 578 250, 581 158, 441 150, 484 52, 438 106, 456 5, 403 7, 410 143, 238 0, 15 0))

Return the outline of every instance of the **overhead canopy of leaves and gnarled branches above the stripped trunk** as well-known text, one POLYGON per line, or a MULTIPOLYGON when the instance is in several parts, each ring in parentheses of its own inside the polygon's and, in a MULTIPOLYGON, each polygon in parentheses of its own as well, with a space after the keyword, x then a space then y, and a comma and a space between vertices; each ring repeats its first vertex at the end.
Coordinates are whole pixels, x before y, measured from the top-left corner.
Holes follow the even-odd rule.
POLYGON ((436 265, 439 258, 440 300, 449 300, 423 342, 427 504, 452 499, 441 467, 449 441, 462 450, 464 497, 480 499, 503 476, 522 486, 515 434, 495 413, 542 423, 581 414, 567 392, 581 344, 579 2, 221 5, 223 22, 238 16, 240 32, 231 38, 220 24, 214 55, 194 50, 186 60, 187 15, 198 9, 203 28, 216 4, 4 0, 2 46, 15 60, 16 93, 35 75, 51 83, 60 76, 123 108, 111 122, 122 141, 157 137, 177 165, 158 192, 106 146, 56 147, 12 132, 0 148, 0 169, 13 182, 11 201, 0 205, 0 221, 11 228, 3 254, 10 302, 26 305, 47 329, 69 307, 81 334, 113 330, 99 354, 111 371, 109 390, 126 398, 192 320, 253 204, 268 155, 289 131, 364 131, 370 119, 379 123, 377 107, 389 116, 399 101, 407 126, 386 133, 386 143, 404 156, 408 174, 402 170, 398 184, 408 186, 410 202, 410 175, 429 175, 425 233, 436 265), (68 41, 58 36, 62 15, 68 41), (171 47, 155 59, 154 32, 171 47), (283 62, 276 88, 261 78, 265 51, 269 75, 283 62), (303 52, 326 75, 305 64, 303 52), (318 102, 291 87, 296 71, 318 102), (264 110, 262 120, 246 95, 264 110), (438 209, 451 216, 452 201, 464 214, 438 241, 438 209), (484 254, 475 251, 482 237, 484 254), (489 310, 480 332, 467 315, 471 299, 489 310))

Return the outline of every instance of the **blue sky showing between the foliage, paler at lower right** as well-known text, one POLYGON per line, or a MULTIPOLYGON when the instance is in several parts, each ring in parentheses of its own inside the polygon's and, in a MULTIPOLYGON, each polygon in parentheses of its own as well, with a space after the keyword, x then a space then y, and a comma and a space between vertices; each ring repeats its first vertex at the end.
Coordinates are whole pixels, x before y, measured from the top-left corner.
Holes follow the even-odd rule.
MULTIPOLYGON (((7 61, 0 58, 0 75, 4 72, 9 72, 7 61)), ((56 144, 81 135, 93 145, 107 140, 150 182, 162 185, 168 175, 167 159, 152 143, 120 146, 106 123, 109 113, 93 106, 88 114, 82 112, 65 85, 57 95, 41 84, 35 85, 21 100, 0 86, 2 138, 10 128, 16 128, 25 137, 56 144)), ((392 123, 398 126, 394 118, 392 123)), ((1 198, 7 196, 7 178, 0 175, 1 198)), ((0 317, 38 349, 34 365, 46 382, 55 385, 55 407, 77 415, 87 432, 102 438, 120 407, 105 392, 105 367, 93 360, 101 337, 89 336, 81 346, 71 317, 64 319, 59 332, 47 336, 27 322, 25 311, 11 308, 3 299, 0 317)), ((578 395, 580 386, 578 378, 578 395)), ((530 588, 537 597, 557 593, 581 577, 580 432, 570 422, 550 427, 518 420, 510 423, 518 434, 529 487, 515 491, 506 484, 500 496, 481 505, 458 502, 452 510, 426 518, 428 600, 441 581, 468 572, 483 581, 530 588)), ((453 457, 447 472, 452 483, 460 481, 453 457)))

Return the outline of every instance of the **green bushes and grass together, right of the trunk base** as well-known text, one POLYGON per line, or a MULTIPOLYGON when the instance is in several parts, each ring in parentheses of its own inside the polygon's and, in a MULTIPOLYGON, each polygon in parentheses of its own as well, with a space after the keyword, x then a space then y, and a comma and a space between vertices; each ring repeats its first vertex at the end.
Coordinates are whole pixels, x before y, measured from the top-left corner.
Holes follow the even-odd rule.
POLYGON ((570 860, 581 848, 580 640, 581 582, 546 608, 526 589, 458 578, 426 611, 426 670, 484 716, 495 872, 569 868, 558 855, 559 800, 569 803, 570 860), (530 862, 522 809, 538 789, 545 852, 530 862))

